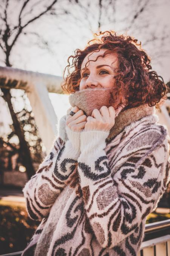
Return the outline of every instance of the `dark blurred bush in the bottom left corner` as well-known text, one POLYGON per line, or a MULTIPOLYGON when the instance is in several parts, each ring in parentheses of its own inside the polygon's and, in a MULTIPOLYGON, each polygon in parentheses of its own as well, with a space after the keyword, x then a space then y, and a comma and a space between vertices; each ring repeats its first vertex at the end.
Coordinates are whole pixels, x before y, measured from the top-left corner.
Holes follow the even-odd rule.
POLYGON ((38 225, 24 206, 0 205, 0 254, 22 251, 38 225))

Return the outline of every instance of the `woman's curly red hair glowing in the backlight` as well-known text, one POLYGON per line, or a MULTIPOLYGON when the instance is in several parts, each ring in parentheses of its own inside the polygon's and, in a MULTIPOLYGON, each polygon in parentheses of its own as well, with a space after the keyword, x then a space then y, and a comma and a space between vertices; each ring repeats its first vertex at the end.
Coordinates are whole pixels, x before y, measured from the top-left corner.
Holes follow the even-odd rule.
MULTIPOLYGON (((76 49, 74 55, 68 58, 68 65, 64 69, 63 75, 63 91, 67 94, 79 91, 80 71, 84 58, 89 53, 106 49, 104 54, 98 55, 98 57, 104 57, 110 53, 116 53, 118 57, 119 68, 116 70, 116 80, 113 84, 116 88, 113 98, 115 102, 116 99, 119 100, 117 107, 121 105, 122 95, 126 92, 126 107, 124 110, 145 103, 150 107, 156 105, 159 108, 161 99, 162 101, 167 99, 167 85, 161 76, 151 70, 151 59, 141 48, 141 42, 138 43, 138 40, 131 36, 117 36, 115 31, 100 32, 99 35, 95 34, 95 36, 94 39, 88 42, 85 49, 76 49)), ((76 194, 82 196, 77 168, 66 181, 66 184, 70 184, 72 188, 76 187, 76 194)))

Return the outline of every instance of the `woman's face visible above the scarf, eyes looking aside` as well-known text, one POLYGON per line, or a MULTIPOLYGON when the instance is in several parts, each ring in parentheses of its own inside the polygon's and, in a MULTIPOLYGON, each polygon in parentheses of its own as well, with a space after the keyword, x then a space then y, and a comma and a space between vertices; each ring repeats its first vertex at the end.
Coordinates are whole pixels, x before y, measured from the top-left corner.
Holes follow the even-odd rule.
POLYGON ((80 90, 87 88, 111 88, 114 86, 114 76, 117 75, 114 69, 118 68, 116 53, 107 54, 105 57, 101 56, 96 60, 106 50, 101 49, 99 52, 89 53, 84 58, 81 66, 80 90), (88 62, 88 57, 90 62, 88 62), (85 69, 87 62, 87 69, 85 69))

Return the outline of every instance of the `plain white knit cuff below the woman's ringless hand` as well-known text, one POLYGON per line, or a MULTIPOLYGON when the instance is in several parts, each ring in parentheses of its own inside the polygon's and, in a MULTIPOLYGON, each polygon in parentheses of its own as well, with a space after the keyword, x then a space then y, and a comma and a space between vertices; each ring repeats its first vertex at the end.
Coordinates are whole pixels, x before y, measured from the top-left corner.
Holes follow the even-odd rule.
POLYGON ((108 137, 109 131, 105 130, 89 130, 80 133, 80 151, 90 152, 98 147, 103 149, 106 146, 105 139, 108 137))

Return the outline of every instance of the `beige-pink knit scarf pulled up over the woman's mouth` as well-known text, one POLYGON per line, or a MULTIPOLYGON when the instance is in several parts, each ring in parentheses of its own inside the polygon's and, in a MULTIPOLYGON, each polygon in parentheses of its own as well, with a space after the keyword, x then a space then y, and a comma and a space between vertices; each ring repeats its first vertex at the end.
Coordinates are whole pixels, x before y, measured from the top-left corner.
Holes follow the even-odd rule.
MULTIPOLYGON (((113 93, 113 88, 85 89, 70 94, 68 99, 71 108, 77 106, 83 110, 87 116, 91 116, 95 108, 100 110, 102 106, 115 107, 115 105, 117 105, 113 93)), ((70 113, 71 108, 68 110, 67 115, 70 113)), ((149 107, 148 104, 141 104, 139 107, 128 108, 127 110, 124 110, 123 106, 121 112, 115 118, 115 124, 111 128, 107 140, 116 136, 128 124, 138 121, 143 116, 149 116, 154 113, 155 107, 149 107)))

